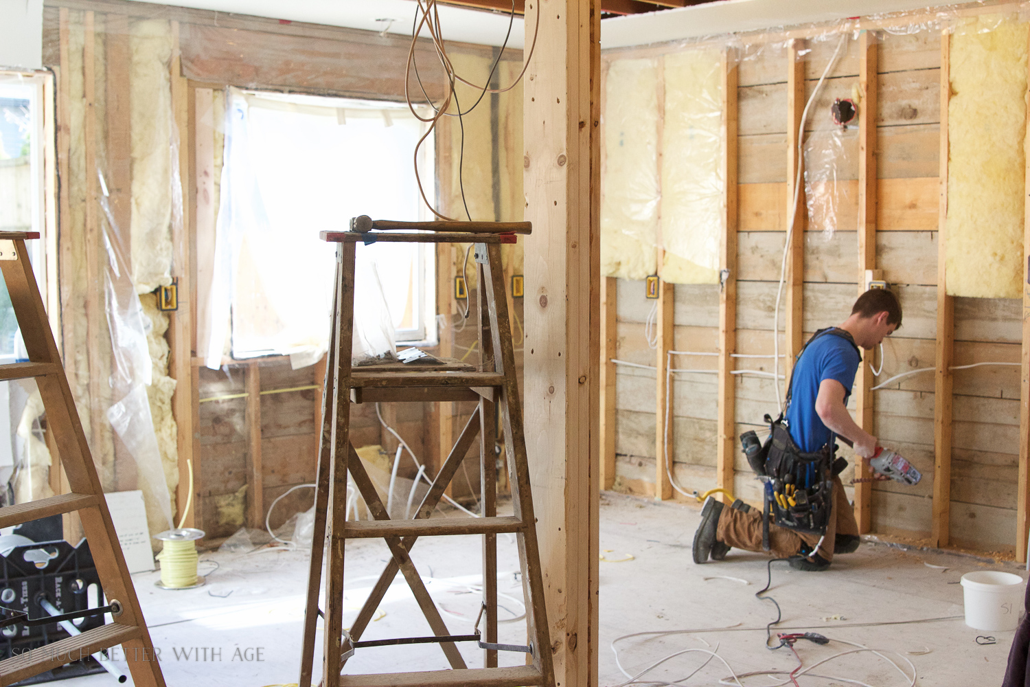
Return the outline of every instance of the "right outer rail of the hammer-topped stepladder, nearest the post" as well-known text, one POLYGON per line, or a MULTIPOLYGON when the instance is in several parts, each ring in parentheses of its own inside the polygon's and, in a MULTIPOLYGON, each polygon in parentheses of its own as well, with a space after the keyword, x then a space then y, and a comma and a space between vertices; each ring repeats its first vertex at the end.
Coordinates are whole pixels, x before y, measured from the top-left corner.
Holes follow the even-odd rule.
POLYGON ((488 274, 488 278, 484 279, 483 283, 489 299, 490 327, 493 349, 496 351, 497 371, 505 375, 501 409, 504 417, 505 448, 508 452, 509 470, 512 473, 512 505, 515 516, 526 523, 524 534, 517 535, 523 587, 526 592, 526 624, 529 637, 536 642, 534 665, 543 676, 544 684, 553 686, 554 663, 550 651, 550 630, 546 622, 544 578, 537 527, 534 524, 536 517, 529 487, 529 465, 525 452, 522 404, 515 377, 515 352, 512 346, 511 322, 508 319, 508 301, 505 298, 504 273, 501 268, 501 246, 489 244, 487 255, 488 261, 484 271, 488 274))

